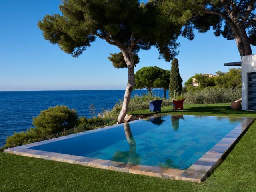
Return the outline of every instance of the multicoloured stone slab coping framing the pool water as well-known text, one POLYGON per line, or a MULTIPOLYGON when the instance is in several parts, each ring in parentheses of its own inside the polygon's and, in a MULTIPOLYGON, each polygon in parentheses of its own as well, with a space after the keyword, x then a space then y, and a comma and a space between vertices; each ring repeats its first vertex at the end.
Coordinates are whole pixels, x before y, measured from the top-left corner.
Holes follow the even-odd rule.
MULTIPOLYGON (((156 116, 154 116, 156 117, 156 116)), ((148 117, 142 120, 154 118, 148 117)), ((227 118, 227 117, 222 117, 227 118)), ((128 122, 129 124, 142 121, 135 120, 132 122, 128 122)), ((4 152, 41 158, 46 160, 54 160, 60 162, 67 162, 72 164, 80 164, 84 166, 90 166, 95 168, 107 169, 107 170, 115 170, 119 172, 126 173, 134 173, 134 174, 142 174, 154 177, 162 177, 162 178, 170 178, 176 180, 186 180, 192 182, 202 182, 206 179, 206 177, 216 168, 223 158, 230 152, 232 146, 236 143, 236 141, 242 137, 242 135, 246 132, 249 126, 254 122, 254 118, 244 118, 244 120, 236 126, 233 130, 231 130, 220 142, 218 142, 215 146, 213 146, 208 152, 206 152, 200 159, 198 159, 194 164, 192 164, 187 170, 180 169, 172 169, 167 167, 160 166, 146 166, 146 165, 134 165, 124 162, 116 162, 111 160, 103 160, 96 158, 88 158, 83 156, 75 156, 69 154, 61 154, 55 152, 47 152, 41 150, 29 149, 33 146, 38 146, 46 143, 51 143, 59 140, 64 140, 76 136, 81 136, 84 134, 90 134, 93 132, 98 132, 101 130, 106 130, 110 128, 114 128, 116 126, 120 126, 120 124, 107 126, 104 128, 98 128, 90 131, 80 132, 72 135, 62 136, 58 138, 53 138, 50 140, 44 140, 40 142, 35 142, 23 146, 18 146, 14 148, 5 149, 4 152)))

